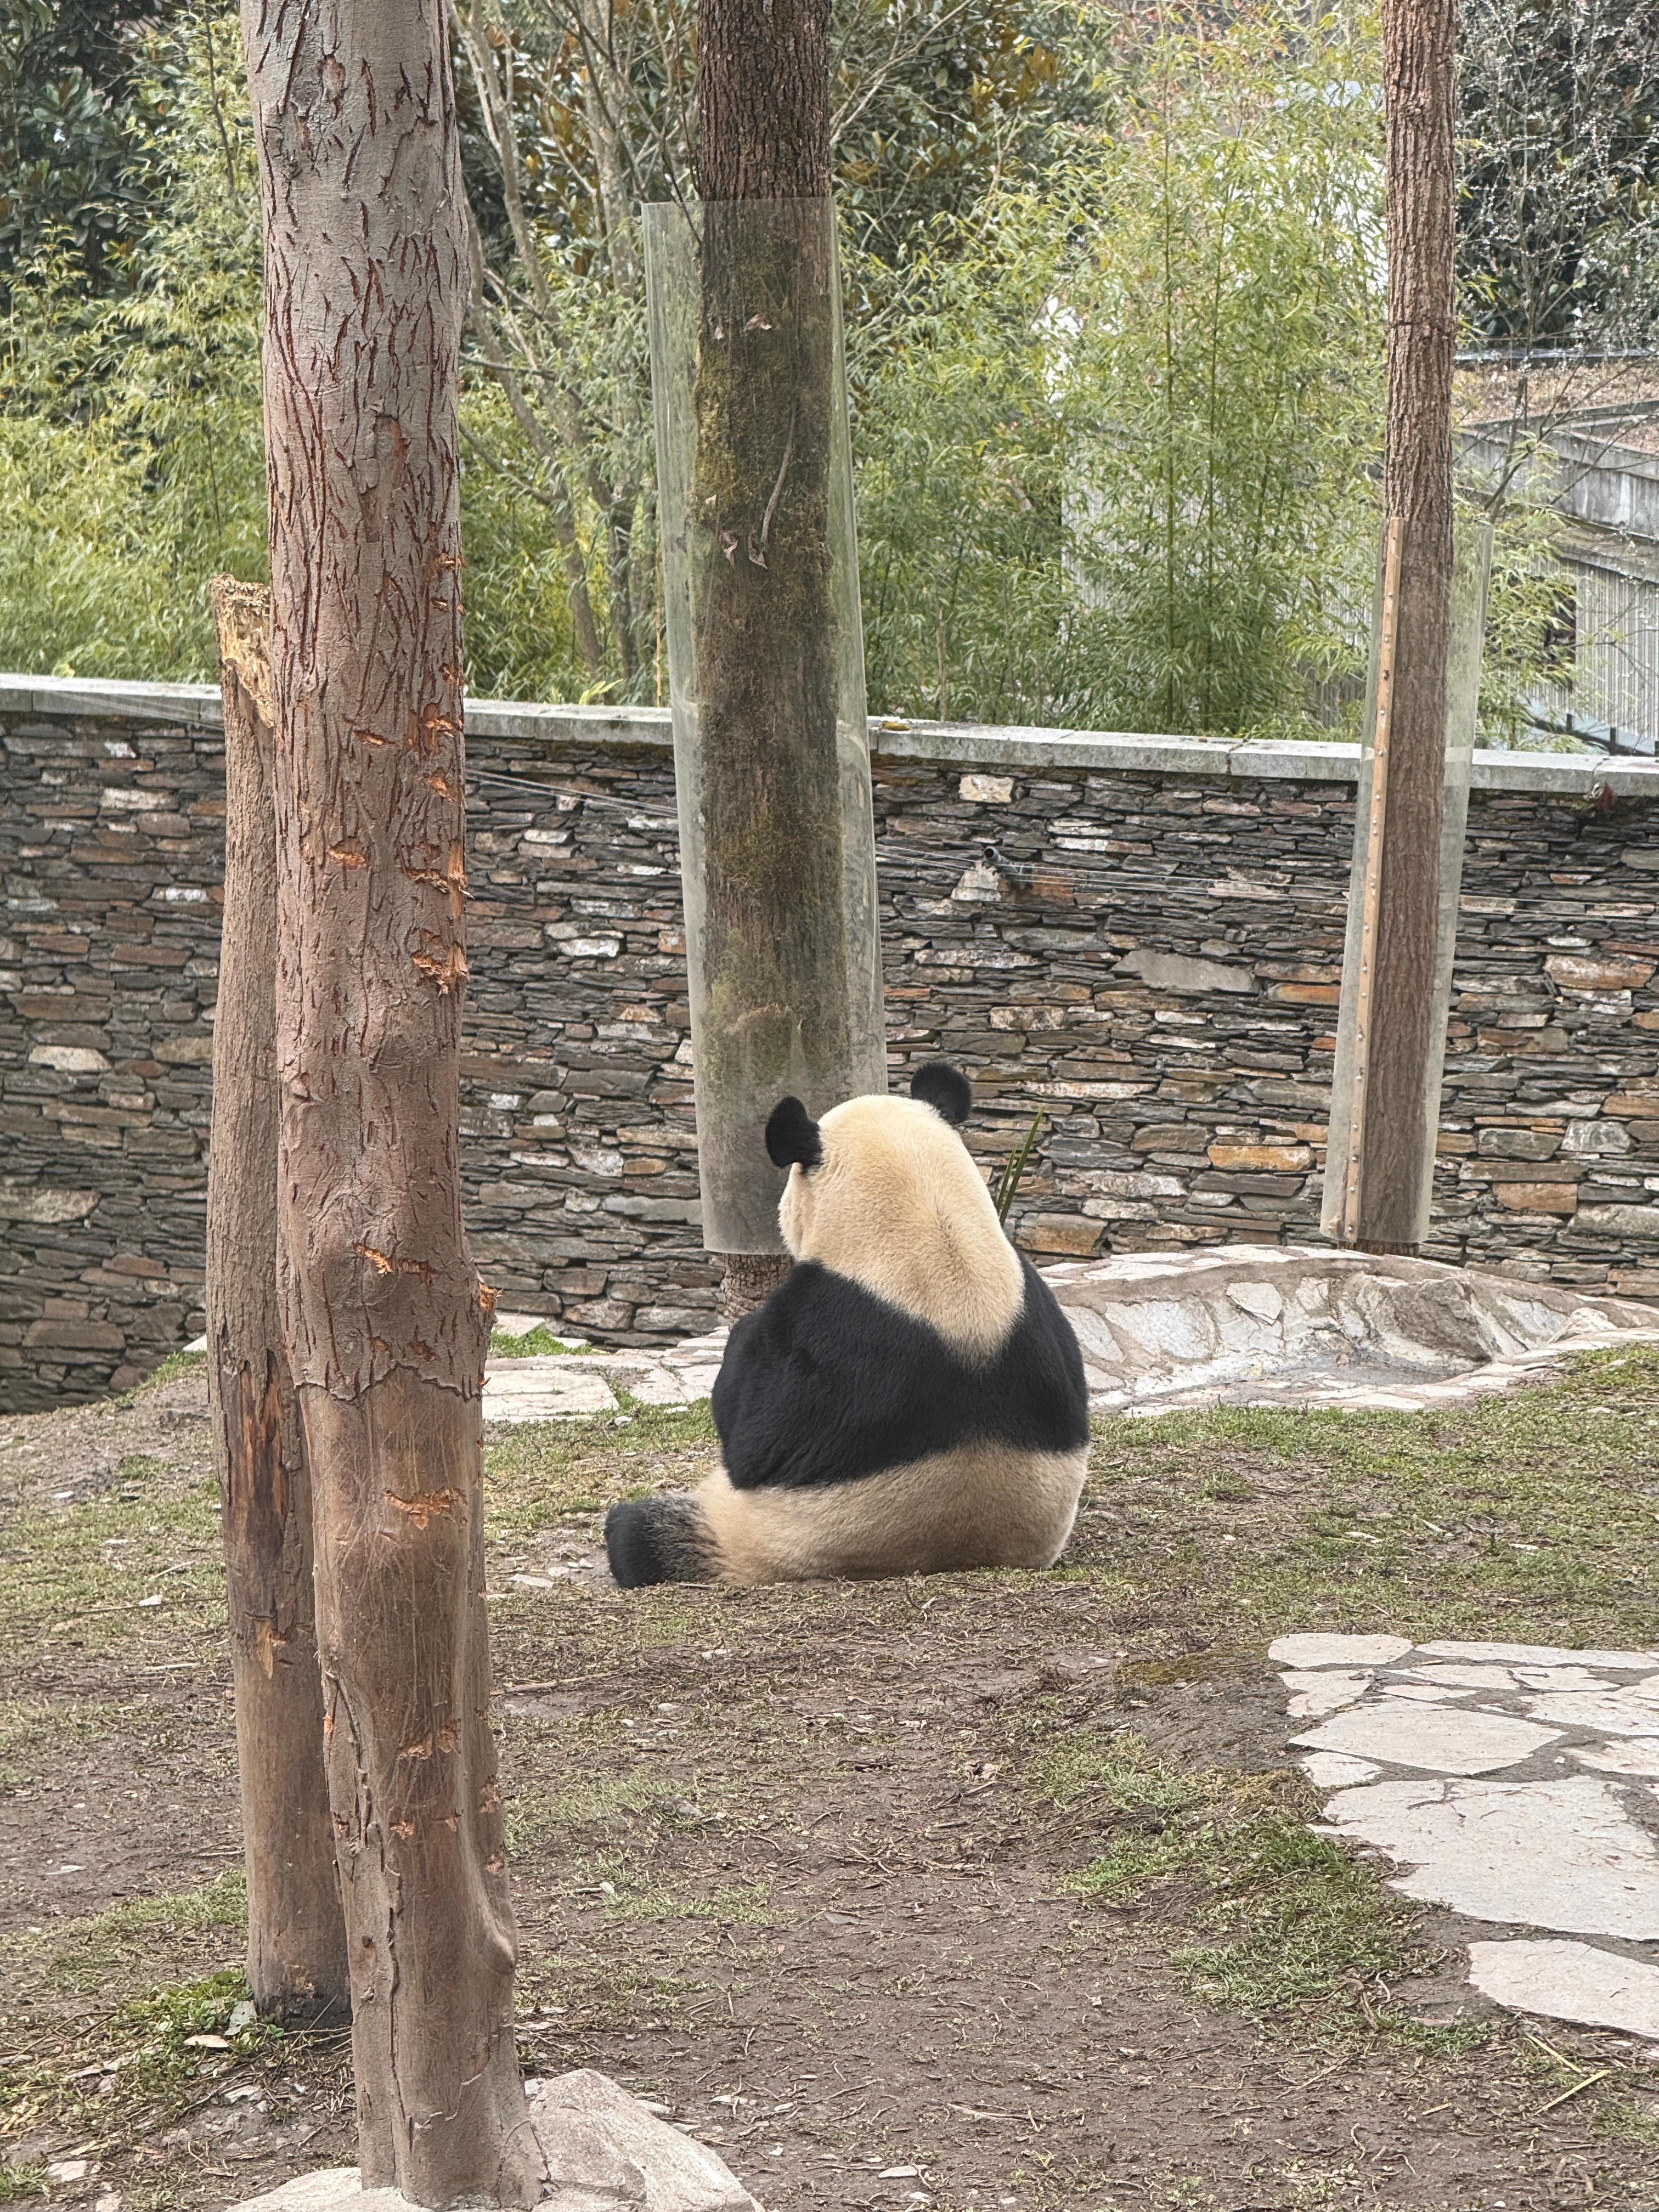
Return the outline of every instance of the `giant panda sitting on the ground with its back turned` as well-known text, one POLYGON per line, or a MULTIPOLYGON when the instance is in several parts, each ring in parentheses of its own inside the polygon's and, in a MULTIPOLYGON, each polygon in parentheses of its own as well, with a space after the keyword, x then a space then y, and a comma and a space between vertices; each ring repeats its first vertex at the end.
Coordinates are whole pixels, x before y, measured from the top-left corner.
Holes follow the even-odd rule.
POLYGON ((799 1582, 1053 1566, 1088 1460, 1088 1389, 1055 1294, 1002 1232, 958 1128, 964 1075, 814 1121, 785 1097, 765 1148, 794 1267, 732 1329, 721 1467, 606 1517, 611 1573, 799 1582))

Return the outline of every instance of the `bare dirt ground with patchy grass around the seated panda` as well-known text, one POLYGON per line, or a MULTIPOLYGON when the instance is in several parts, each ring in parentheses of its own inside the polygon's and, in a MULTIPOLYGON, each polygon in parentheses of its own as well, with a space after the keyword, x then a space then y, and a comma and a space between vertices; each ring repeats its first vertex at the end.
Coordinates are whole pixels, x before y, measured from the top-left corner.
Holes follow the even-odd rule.
MULTIPOLYGON (((498 1436, 526 2070, 604 2068, 770 2212, 1659 2212, 1652 2048, 1473 2000, 1469 1931, 1310 1829, 1265 1663, 1655 1641, 1657 1433, 1650 1354, 1455 1416, 1104 1422, 1053 1575, 635 1595, 604 1504, 706 1464, 706 1411, 498 1436)), ((349 2161, 345 2035, 230 2035, 199 1371, 0 1418, 0 2201, 349 2161)))

